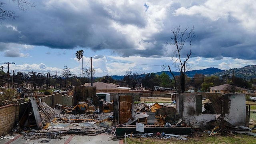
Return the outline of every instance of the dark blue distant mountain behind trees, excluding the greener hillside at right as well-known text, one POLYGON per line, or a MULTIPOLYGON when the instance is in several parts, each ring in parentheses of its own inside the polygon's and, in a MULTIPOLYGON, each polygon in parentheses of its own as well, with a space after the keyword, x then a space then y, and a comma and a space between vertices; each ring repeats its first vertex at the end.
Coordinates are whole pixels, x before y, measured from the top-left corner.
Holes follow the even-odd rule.
MULTIPOLYGON (((221 69, 218 69, 218 68, 206 68, 206 69, 203 69, 203 70, 188 71, 188 72, 186 72, 186 75, 189 76, 189 77, 193 77, 197 73, 197 74, 204 74, 205 76, 208 76, 208 75, 212 75, 214 73, 223 72, 223 71, 224 70, 221 70, 221 69)), ((165 72, 166 74, 168 74, 172 78, 172 75, 169 71, 155 72, 155 74, 161 75, 163 72, 165 72)), ((173 72, 173 74, 174 74, 174 76, 179 76, 180 72, 173 72)), ((124 78, 124 76, 117 76, 117 75, 114 75, 114 76, 111 76, 111 77, 114 80, 122 80, 124 78)))

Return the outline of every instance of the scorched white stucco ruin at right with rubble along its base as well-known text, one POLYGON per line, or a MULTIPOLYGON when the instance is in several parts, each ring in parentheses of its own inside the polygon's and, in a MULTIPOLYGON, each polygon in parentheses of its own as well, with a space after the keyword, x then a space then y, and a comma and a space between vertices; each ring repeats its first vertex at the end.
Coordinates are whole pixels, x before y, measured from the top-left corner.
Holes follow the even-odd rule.
POLYGON ((248 128, 250 111, 243 93, 179 94, 176 100, 179 116, 192 128, 212 130, 210 135, 216 130, 222 134, 237 132, 256 136, 248 128), (205 104, 203 97, 209 99, 205 104))

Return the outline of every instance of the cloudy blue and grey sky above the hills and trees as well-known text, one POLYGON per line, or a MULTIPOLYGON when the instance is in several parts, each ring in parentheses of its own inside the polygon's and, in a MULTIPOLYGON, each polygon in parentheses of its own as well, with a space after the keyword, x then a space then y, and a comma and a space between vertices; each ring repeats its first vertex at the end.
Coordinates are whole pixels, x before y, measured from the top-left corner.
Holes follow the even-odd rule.
MULTIPOLYGON (((15 19, 0 22, 0 66, 7 72, 55 74, 64 66, 79 76, 92 57, 96 76, 176 70, 171 30, 194 27, 190 70, 228 70, 256 64, 255 0, 29 0, 15 19), (82 60, 81 60, 82 67, 82 60), (168 69, 166 69, 168 70, 168 69)), ((188 45, 182 56, 186 56, 188 45)))

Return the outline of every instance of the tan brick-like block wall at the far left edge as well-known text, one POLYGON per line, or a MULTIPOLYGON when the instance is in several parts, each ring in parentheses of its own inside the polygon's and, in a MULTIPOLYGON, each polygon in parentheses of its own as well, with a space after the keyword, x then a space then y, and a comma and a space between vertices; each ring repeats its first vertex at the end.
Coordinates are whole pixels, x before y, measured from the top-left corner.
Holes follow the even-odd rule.
POLYGON ((0 107, 0 136, 11 132, 19 119, 19 105, 10 104, 0 107))

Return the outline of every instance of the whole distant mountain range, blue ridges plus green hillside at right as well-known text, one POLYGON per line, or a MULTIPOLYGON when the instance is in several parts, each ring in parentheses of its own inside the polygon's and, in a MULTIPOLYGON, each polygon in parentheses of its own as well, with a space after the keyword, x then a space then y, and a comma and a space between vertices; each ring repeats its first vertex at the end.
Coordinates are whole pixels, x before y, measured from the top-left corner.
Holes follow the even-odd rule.
MULTIPOLYGON (((168 74, 171 78, 172 75, 169 71, 161 71, 161 72, 155 72, 155 74, 162 74, 163 72, 165 72, 166 74, 168 74)), ((180 72, 172 72, 174 74, 174 76, 179 76, 180 72)), ((203 70, 190 70, 186 72, 186 75, 188 77, 193 77, 195 74, 203 74, 204 76, 222 76, 224 74, 228 74, 229 76, 232 76, 233 74, 236 77, 239 78, 245 78, 246 80, 250 80, 251 78, 254 79, 256 78, 256 65, 250 65, 250 66, 244 66, 242 68, 233 68, 230 70, 221 70, 219 68, 206 68, 203 70)), ((145 76, 146 74, 142 74, 142 76, 145 76)), ((111 76, 114 80, 122 80, 124 78, 124 76, 117 76, 117 75, 113 75, 111 76)))

